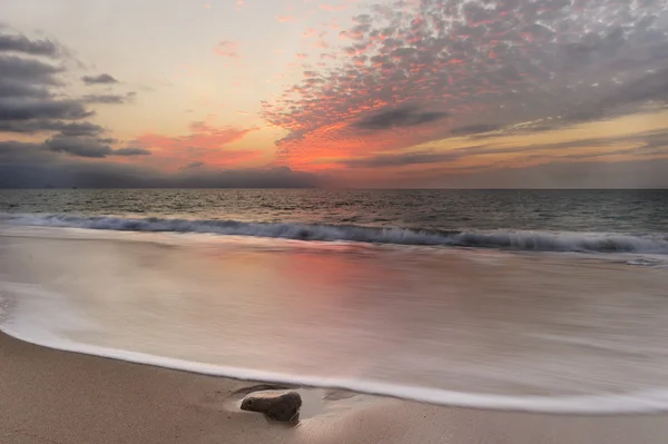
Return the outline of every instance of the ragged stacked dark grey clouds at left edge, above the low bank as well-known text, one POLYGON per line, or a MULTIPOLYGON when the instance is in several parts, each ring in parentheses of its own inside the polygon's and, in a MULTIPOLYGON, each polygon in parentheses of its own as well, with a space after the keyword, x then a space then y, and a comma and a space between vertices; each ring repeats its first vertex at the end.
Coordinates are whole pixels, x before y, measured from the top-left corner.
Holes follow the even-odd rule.
MULTIPOLYGON (((105 128, 84 120, 95 115, 89 105, 125 103, 135 96, 134 92, 68 98, 58 88, 63 85, 61 78, 67 75, 65 69, 35 57, 50 56, 57 59, 66 53, 66 49, 49 40, 30 40, 0 30, 0 132, 51 134, 40 144, 19 146, 18 142, 3 142, 4 151, 11 148, 14 160, 26 160, 20 166, 23 170, 30 169, 28 160, 38 161, 47 168, 47 164, 60 165, 58 158, 102 159, 109 156, 150 155, 143 147, 115 149, 117 141, 114 138, 100 137, 105 128)), ((84 77, 84 81, 88 85, 117 82, 109 75, 84 77)))

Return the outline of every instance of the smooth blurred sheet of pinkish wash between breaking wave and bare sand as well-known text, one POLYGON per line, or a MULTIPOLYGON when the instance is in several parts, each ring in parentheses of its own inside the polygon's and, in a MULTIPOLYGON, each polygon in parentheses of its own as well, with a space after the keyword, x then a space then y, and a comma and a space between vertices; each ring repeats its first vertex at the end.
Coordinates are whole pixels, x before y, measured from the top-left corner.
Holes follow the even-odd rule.
POLYGON ((30 343, 444 405, 668 411, 661 268, 285 241, 165 249, 164 235, 82 233, 87 243, 49 230, 0 233, 0 329, 30 343))

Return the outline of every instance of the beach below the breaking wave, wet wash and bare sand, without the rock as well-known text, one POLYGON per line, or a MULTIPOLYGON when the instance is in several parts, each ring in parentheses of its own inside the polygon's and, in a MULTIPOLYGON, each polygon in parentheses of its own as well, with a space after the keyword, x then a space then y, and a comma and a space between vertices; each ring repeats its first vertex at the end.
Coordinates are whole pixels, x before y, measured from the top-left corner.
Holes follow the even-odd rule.
POLYGON ((0 443, 665 443, 649 251, 0 226, 0 443))

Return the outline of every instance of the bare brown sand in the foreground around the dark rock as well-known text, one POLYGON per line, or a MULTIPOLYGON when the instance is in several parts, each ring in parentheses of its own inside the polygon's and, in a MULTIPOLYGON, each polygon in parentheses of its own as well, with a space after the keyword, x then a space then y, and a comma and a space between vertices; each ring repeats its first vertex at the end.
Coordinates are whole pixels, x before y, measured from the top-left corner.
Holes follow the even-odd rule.
POLYGON ((0 334, 0 443, 666 443, 668 416, 560 416, 330 393, 295 427, 242 412, 256 382, 52 351, 0 334), (351 397, 352 396, 352 397, 351 397))

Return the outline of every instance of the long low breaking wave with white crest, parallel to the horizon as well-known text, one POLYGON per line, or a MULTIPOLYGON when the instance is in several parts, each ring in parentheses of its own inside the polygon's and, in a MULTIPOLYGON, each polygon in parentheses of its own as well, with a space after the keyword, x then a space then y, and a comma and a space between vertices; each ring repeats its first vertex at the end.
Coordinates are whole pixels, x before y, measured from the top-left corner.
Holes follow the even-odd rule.
POLYGON ((82 217, 30 214, 0 215, 0 221, 12 225, 153 233, 208 233, 296 240, 505 248, 534 251, 668 254, 668 236, 665 234, 623 235, 612 233, 525 230, 444 231, 400 227, 375 228, 296 223, 244 223, 236 220, 82 217))

